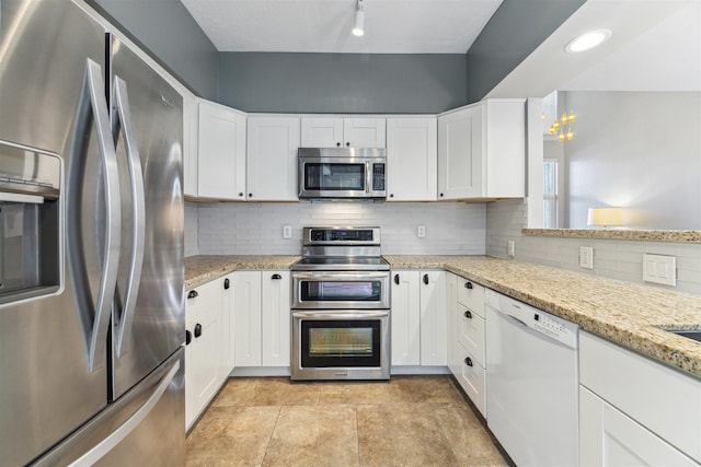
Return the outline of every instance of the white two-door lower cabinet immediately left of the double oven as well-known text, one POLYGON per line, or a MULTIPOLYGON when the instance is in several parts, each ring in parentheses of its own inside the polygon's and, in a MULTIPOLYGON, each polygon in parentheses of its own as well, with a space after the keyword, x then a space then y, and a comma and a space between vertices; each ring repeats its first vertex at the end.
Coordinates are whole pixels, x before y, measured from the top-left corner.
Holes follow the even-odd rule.
POLYGON ((237 366, 289 366, 289 271, 233 273, 237 366))

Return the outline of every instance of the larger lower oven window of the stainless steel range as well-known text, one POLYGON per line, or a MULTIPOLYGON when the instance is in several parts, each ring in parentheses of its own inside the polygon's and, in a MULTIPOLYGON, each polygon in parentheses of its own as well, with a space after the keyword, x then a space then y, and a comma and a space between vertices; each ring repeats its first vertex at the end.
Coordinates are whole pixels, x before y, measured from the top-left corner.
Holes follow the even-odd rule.
POLYGON ((380 319, 301 322, 302 367, 380 366, 380 319))

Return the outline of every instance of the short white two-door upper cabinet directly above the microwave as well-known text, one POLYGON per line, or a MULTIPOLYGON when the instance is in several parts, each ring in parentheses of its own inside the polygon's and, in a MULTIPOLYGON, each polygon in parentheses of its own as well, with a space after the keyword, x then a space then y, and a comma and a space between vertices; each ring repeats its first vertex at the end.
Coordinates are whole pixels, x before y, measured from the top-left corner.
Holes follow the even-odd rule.
POLYGON ((304 117, 303 148, 384 148, 384 118, 304 117))

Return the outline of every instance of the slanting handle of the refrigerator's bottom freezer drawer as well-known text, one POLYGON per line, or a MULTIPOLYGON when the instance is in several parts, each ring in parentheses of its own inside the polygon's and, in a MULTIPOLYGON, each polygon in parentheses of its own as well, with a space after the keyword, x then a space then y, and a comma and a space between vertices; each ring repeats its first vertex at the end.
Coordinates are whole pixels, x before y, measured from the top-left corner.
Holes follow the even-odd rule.
POLYGON ((169 372, 163 376, 158 387, 153 390, 153 393, 149 396, 149 398, 143 402, 141 407, 129 417, 124 423, 122 423, 115 431, 113 431, 107 437, 102 440, 95 446, 93 446, 90 451, 83 454, 80 458, 71 464, 71 467, 82 467, 82 466, 92 466, 97 460, 103 458, 110 451, 112 451, 117 444, 119 444, 125 437, 129 435, 139 424, 148 417, 148 415, 153 410, 153 407, 161 400, 161 397, 170 386, 171 382, 180 370, 180 360, 176 360, 173 363, 173 366, 169 370, 169 372))

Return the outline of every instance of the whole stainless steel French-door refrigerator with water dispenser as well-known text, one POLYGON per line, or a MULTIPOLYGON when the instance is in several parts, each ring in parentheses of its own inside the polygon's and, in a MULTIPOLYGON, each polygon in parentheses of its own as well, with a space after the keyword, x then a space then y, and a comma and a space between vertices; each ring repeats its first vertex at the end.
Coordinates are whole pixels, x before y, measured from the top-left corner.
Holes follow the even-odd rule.
POLYGON ((0 0, 0 465, 184 464, 182 97, 0 0))

